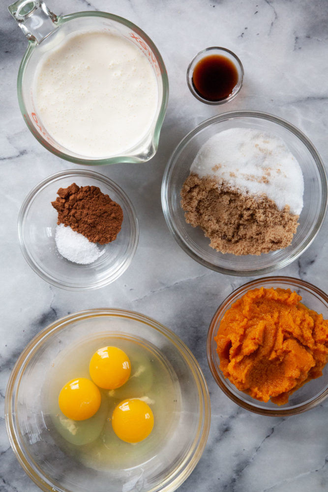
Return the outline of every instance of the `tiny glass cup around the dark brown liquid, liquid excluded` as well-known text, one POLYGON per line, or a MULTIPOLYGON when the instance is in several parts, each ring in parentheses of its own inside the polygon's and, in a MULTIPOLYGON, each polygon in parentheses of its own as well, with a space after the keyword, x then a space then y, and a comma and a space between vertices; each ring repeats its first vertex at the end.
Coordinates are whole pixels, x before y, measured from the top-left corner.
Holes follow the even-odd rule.
POLYGON ((190 92, 198 99, 199 101, 204 102, 205 104, 211 104, 211 105, 217 105, 217 104, 223 104, 225 102, 229 102, 232 99, 236 97, 236 95, 239 93, 242 83, 244 80, 244 69, 243 66, 235 53, 233 53, 230 50, 227 50, 226 48, 221 48, 218 46, 211 46, 210 48, 206 48, 203 51, 200 51, 189 63, 189 66, 187 68, 187 84, 189 87, 190 92), (195 69, 195 66, 197 65, 198 62, 203 60, 206 57, 209 57, 211 55, 218 55, 224 58, 227 58, 230 62, 232 62, 237 70, 238 73, 238 80, 237 84, 231 91, 229 95, 226 97, 223 97, 222 99, 217 99, 217 100, 209 100, 204 98, 199 92, 196 91, 194 84, 193 84, 193 72, 195 69))

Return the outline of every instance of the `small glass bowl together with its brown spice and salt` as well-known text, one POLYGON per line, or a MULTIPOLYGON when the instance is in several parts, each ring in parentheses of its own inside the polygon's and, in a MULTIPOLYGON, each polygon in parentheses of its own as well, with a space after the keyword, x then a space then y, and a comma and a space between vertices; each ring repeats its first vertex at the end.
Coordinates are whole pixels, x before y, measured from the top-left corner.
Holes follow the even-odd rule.
POLYGON ((22 253, 47 282, 66 290, 103 287, 130 265, 138 245, 134 207, 112 180, 89 170, 37 184, 18 217, 22 253))

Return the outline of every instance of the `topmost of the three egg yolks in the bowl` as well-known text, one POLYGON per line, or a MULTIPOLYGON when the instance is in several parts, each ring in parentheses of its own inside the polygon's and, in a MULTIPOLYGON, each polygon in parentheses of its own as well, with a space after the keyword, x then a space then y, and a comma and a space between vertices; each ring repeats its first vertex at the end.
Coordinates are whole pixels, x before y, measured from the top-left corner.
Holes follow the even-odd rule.
POLYGON ((92 381, 106 390, 115 390, 130 377, 128 356, 118 347, 99 348, 91 357, 89 372, 92 381))

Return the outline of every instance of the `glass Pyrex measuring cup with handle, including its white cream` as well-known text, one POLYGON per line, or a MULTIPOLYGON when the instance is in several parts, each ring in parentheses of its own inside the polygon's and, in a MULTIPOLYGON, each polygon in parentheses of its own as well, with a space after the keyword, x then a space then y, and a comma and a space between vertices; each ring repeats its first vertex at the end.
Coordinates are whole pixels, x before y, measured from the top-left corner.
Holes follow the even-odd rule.
POLYGON ((57 16, 42 0, 19 0, 9 11, 29 39, 17 90, 35 138, 77 164, 153 157, 169 85, 147 34, 107 12, 57 16))

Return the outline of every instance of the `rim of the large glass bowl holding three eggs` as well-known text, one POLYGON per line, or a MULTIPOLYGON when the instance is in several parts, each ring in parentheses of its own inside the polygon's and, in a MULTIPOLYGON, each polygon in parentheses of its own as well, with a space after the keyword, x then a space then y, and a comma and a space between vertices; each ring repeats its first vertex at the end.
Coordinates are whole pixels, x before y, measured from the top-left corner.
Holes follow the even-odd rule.
MULTIPOLYGON (((195 468, 196 464, 200 460, 204 448, 207 443, 208 435, 209 435, 209 427, 210 427, 210 398, 209 398, 209 389, 208 385, 201 369, 198 361, 195 356, 191 352, 191 350, 187 347, 187 345, 183 342, 178 335, 176 335, 172 330, 164 326, 162 323, 156 321, 149 316, 142 314, 137 311, 131 311, 127 309, 121 308, 91 308, 85 309, 83 311, 77 311, 75 313, 68 314, 54 321, 50 325, 46 326, 42 329, 37 335, 35 335, 30 342, 23 349, 22 353, 19 355, 14 368, 12 369, 9 380, 6 387, 5 392, 5 402, 4 402, 4 415, 5 415, 5 424, 7 435, 10 441, 11 448, 14 451, 14 454, 26 472, 26 474, 30 477, 30 479, 44 492, 53 492, 54 488, 51 484, 51 480, 45 481, 44 478, 41 478, 41 474, 35 472, 33 467, 31 466, 29 460, 26 458, 26 454, 23 452, 19 445, 19 438, 16 426, 16 414, 13 412, 15 397, 17 394, 17 388, 19 387, 20 380, 22 378, 22 374, 24 373, 24 369, 28 365, 30 359, 37 352, 38 348, 42 346, 44 341, 51 338, 53 335, 56 335, 58 332, 64 330, 69 326, 71 322, 75 322, 78 320, 94 318, 96 316, 106 317, 122 317, 122 318, 130 318, 145 325, 148 325, 151 329, 156 330, 160 335, 164 336, 168 339, 170 344, 172 343, 178 349, 181 357, 187 364, 188 368, 191 370, 193 378, 197 383, 199 399, 200 399, 200 413, 199 413, 199 428, 200 430, 195 434, 195 439, 193 442, 193 446, 190 448, 190 453, 187 458, 185 458, 179 467, 175 470, 175 476, 170 476, 164 482, 164 487, 162 487, 163 482, 157 487, 153 487, 149 489, 149 492, 173 492, 175 491, 190 475, 190 473, 195 468)), ((34 463, 34 461, 33 461, 34 463)), ((36 464, 36 463, 35 463, 36 464)), ((35 466, 35 469, 38 469, 38 466, 35 466)), ((43 475, 45 476, 45 475, 43 475)), ((95 488, 96 491, 96 488, 95 488)))

